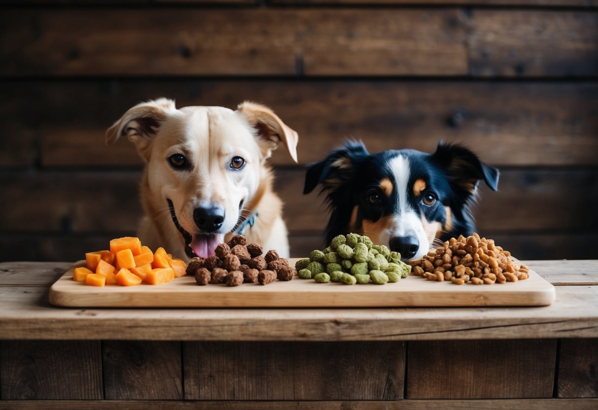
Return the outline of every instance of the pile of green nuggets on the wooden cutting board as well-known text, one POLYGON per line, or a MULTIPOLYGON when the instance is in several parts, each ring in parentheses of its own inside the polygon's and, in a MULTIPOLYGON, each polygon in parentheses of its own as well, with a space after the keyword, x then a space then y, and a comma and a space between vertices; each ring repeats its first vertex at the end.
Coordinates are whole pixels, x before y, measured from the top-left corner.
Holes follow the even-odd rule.
POLYGON ((410 265, 401 262, 400 253, 353 233, 338 235, 324 250, 313 250, 309 258, 297 261, 295 268, 301 279, 344 284, 399 282, 411 272, 410 265))

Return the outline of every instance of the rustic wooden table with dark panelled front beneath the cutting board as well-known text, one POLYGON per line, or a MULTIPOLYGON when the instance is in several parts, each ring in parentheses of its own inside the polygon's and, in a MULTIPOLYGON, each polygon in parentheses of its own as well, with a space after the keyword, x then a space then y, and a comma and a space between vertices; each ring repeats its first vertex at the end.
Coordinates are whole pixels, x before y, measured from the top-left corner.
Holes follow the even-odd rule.
POLYGON ((526 261, 547 307, 57 308, 0 264, 0 409, 596 409, 598 261, 526 261))

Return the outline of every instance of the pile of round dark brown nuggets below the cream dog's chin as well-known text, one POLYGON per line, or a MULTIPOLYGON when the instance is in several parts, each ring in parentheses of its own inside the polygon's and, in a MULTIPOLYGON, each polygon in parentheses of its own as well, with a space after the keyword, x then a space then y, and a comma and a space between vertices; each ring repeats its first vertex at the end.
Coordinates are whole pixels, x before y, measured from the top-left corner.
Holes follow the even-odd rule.
POLYGON ((297 271, 289 261, 280 258, 276 250, 262 255, 263 248, 257 243, 247 243, 243 235, 234 235, 228 243, 216 247, 215 255, 209 258, 199 256, 187 265, 187 274, 195 276, 197 284, 226 283, 239 286, 241 283, 268 284, 274 280, 288 281, 297 271))

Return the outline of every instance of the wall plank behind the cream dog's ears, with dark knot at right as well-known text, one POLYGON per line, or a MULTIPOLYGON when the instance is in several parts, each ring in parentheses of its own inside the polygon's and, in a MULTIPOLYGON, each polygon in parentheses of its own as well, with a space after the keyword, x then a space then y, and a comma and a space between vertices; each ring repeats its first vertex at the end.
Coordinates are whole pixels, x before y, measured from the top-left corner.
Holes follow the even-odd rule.
MULTIPOLYGON (((353 137, 370 152, 433 152, 443 139, 496 166, 598 165, 594 82, 56 79, 0 82, 0 93, 5 167, 141 167, 126 139, 105 145, 105 130, 131 106, 161 96, 178 107, 265 103, 298 132, 300 164, 353 137)), ((270 163, 291 164, 283 151, 270 163)))

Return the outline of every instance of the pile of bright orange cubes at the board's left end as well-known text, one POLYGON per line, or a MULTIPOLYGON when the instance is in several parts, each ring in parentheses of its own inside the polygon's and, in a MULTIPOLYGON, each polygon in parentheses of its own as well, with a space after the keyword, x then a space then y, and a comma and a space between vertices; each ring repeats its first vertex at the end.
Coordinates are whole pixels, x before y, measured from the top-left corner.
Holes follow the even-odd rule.
POLYGON ((112 239, 109 250, 88 252, 85 259, 86 267, 75 268, 73 280, 91 286, 162 284, 184 276, 187 267, 164 248, 152 252, 139 238, 129 236, 112 239))

